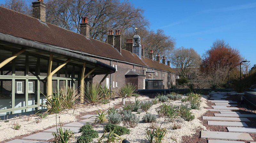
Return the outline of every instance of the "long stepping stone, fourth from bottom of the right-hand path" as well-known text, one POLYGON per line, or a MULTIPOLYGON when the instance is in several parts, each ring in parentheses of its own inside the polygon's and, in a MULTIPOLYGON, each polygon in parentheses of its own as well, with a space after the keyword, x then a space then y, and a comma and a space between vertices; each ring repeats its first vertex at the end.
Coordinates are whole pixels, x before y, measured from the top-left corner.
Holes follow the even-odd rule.
POLYGON ((248 127, 244 122, 227 122, 227 121, 208 121, 208 125, 229 126, 229 127, 248 127))

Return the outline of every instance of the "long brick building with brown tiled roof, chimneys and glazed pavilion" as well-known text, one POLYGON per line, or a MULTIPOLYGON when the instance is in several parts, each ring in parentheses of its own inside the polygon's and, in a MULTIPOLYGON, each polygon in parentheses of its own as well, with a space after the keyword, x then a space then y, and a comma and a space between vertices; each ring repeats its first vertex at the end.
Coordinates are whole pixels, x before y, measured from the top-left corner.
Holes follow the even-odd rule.
POLYGON ((33 17, 3 7, 0 17, 0 116, 42 109, 44 95, 61 87, 99 82, 116 91, 126 83, 137 89, 175 84, 170 62, 161 63, 159 55, 154 61, 152 52, 144 57, 139 35, 127 39, 124 50, 118 30, 109 31, 108 43, 90 38, 86 17, 80 34, 60 28, 45 22, 42 1, 33 3, 33 17))

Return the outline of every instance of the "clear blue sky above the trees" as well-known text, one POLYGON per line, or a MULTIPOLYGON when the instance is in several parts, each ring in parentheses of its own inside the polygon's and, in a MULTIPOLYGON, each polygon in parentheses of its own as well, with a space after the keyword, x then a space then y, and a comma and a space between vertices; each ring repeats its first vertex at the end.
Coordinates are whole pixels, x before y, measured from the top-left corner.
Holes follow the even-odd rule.
POLYGON ((255 0, 130 0, 145 10, 150 29, 163 29, 176 47, 194 48, 203 55, 216 39, 237 48, 256 64, 255 0))

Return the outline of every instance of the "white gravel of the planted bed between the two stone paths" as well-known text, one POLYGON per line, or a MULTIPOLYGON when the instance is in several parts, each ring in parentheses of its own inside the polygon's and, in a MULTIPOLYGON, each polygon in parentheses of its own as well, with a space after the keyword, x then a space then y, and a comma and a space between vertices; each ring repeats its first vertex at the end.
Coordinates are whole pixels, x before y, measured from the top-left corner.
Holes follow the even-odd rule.
MULTIPOLYGON (((157 118, 157 124, 158 126, 161 125, 161 128, 166 128, 167 133, 162 140, 162 143, 180 143, 182 140, 182 136, 192 136, 194 133, 196 133, 196 129, 202 128, 203 130, 207 130, 206 127, 201 123, 198 117, 201 117, 207 110, 204 109, 204 107, 208 107, 206 105, 206 96, 202 97, 202 102, 200 104, 200 110, 191 110, 191 112, 195 115, 195 119, 192 121, 184 121, 183 119, 179 121, 175 121, 173 123, 164 121, 165 118, 157 118), (172 125, 173 124, 180 124, 181 128, 177 130, 172 130, 172 125)), ((181 101, 171 101, 170 102, 172 105, 181 105, 184 104, 181 101)), ((161 106, 162 104, 156 104, 153 105, 148 112, 151 114, 157 115, 156 108, 161 106)), ((140 123, 134 127, 134 128, 129 128, 131 130, 129 135, 123 135, 122 137, 129 140, 131 143, 141 143, 141 142, 147 142, 146 138, 146 131, 149 128, 151 123, 143 123, 142 122, 142 117, 146 114, 146 112, 143 112, 140 110, 140 114, 136 114, 140 117, 140 123)), ((135 113, 135 112, 134 112, 135 113)), ((103 134, 103 128, 105 124, 97 124, 94 129, 99 132, 99 137, 102 136, 103 134)), ((122 123, 120 124, 121 126, 124 126, 122 123)), ((76 133, 76 136, 80 136, 81 133, 76 133)), ((94 142, 97 142, 97 139, 93 140, 94 142)), ((73 141, 75 143, 75 141, 73 141)))

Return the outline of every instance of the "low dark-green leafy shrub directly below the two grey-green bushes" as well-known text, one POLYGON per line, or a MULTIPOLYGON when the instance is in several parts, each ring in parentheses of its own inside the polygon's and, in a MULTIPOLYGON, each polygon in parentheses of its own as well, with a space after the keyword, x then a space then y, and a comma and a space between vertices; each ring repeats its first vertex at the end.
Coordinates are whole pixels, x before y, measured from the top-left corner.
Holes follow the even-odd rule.
POLYGON ((116 133, 119 136, 130 134, 130 130, 126 127, 122 127, 122 126, 110 124, 110 123, 104 126, 104 132, 110 132, 111 130, 112 131, 114 130, 114 133, 116 133))

